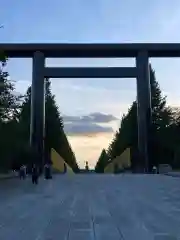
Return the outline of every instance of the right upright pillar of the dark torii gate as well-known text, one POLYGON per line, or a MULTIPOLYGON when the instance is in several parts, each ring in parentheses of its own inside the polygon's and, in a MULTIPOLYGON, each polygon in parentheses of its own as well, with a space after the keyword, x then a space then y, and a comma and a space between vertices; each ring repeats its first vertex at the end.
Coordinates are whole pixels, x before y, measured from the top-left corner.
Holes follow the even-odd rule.
POLYGON ((142 51, 136 57, 137 68, 137 122, 138 156, 145 172, 150 170, 150 128, 152 121, 151 85, 148 52, 142 51))

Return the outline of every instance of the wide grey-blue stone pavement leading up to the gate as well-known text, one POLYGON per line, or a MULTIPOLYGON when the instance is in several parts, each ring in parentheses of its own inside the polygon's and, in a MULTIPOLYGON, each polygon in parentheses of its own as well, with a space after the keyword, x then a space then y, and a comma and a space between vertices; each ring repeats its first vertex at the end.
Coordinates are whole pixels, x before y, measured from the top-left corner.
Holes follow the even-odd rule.
POLYGON ((179 178, 55 175, 0 182, 0 240, 180 239, 179 178))

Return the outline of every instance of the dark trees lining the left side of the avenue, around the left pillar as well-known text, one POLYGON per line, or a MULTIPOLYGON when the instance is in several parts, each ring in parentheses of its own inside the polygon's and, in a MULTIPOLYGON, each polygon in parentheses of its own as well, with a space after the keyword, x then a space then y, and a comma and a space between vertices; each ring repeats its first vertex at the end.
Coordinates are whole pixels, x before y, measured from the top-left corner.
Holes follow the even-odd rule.
MULTIPOLYGON (((2 59, 2 58, 1 58, 2 59)), ((24 96, 15 92, 13 81, 5 71, 7 59, 0 61, 0 170, 19 168, 31 164, 29 146, 31 86, 24 96)), ((45 158, 54 148, 78 172, 77 161, 64 132, 63 119, 51 91, 49 79, 45 79, 45 158)))

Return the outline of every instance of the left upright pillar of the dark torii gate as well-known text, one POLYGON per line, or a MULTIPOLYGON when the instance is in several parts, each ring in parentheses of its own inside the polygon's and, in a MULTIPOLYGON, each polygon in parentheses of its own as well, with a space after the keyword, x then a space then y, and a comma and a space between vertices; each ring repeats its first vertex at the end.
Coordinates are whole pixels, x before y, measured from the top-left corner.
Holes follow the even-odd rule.
POLYGON ((33 162, 42 167, 45 136, 45 57, 42 52, 34 53, 32 65, 30 145, 36 152, 33 162))

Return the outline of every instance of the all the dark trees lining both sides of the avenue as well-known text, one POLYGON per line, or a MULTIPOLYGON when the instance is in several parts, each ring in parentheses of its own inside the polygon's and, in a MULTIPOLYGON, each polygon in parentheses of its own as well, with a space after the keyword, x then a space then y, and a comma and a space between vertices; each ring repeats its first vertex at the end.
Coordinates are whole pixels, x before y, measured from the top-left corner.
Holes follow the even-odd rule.
MULTIPOLYGON (((10 169, 20 164, 29 164, 29 131, 31 87, 24 96, 15 93, 15 86, 8 79, 5 71, 6 58, 0 61, 0 169, 10 169), (18 137, 17 137, 18 136, 18 137)), ((152 126, 149 144, 150 168, 152 165, 168 163, 173 168, 180 168, 180 111, 168 107, 150 66, 152 126)), ((45 154, 50 157, 54 148, 75 172, 79 167, 64 132, 63 119, 57 107, 55 96, 51 92, 51 83, 45 79, 45 154)), ((103 149, 97 160, 95 171, 103 173, 110 160, 119 156, 126 148, 131 149, 132 169, 142 167, 138 159, 137 146, 137 102, 133 101, 127 114, 121 119, 119 130, 109 144, 103 149)))

